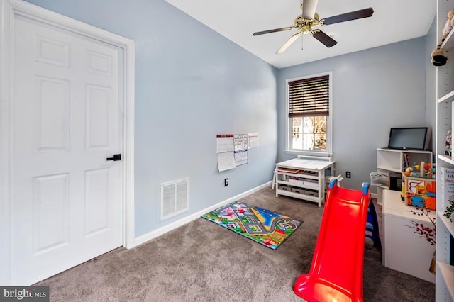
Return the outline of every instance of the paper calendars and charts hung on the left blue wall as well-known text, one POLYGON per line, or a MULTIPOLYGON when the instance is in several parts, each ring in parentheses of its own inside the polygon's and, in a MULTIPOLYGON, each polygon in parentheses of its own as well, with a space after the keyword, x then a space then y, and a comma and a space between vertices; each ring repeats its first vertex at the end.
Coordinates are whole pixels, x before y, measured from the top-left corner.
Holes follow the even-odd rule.
POLYGON ((258 147, 258 133, 216 135, 219 172, 247 164, 251 147, 258 147))

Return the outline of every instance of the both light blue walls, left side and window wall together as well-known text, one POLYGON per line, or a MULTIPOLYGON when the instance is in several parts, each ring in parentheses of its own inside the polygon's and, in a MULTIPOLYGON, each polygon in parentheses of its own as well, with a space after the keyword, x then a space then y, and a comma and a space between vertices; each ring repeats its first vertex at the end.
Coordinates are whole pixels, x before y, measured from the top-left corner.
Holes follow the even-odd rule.
POLYGON ((264 184, 295 157, 284 152, 286 79, 333 72, 336 172, 352 172, 351 189, 370 180, 390 127, 435 125, 430 35, 275 69, 163 0, 27 1, 135 41, 136 236, 264 184), (259 133, 260 147, 219 173, 218 133, 259 133), (159 184, 187 177, 189 213, 160 222, 159 184))

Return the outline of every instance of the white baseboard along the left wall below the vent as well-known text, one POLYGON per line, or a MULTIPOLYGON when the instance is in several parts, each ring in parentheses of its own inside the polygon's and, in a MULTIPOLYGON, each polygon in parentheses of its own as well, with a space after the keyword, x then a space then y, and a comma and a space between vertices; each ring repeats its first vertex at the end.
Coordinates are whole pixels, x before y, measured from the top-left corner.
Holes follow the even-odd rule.
POLYGON ((257 186, 254 189, 250 189, 249 191, 245 191, 242 194, 238 194, 236 196, 233 196, 232 198, 228 198, 225 201, 221 201, 220 203, 217 203, 214 206, 210 206, 209 208, 205 208, 204 210, 191 214, 168 225, 165 225, 162 228, 158 228, 157 230, 153 230, 150 233, 136 237, 134 239, 134 244, 131 247, 128 247, 128 249, 141 245, 147 242, 148 240, 154 239, 155 237, 159 237, 160 235, 163 235, 169 232, 170 230, 174 230, 175 228, 179 228, 180 226, 185 225, 186 223, 190 223, 192 220, 195 220, 206 213, 216 210, 216 208, 220 208, 221 206, 225 206, 228 203, 237 201, 238 199, 244 198, 245 196, 260 191, 261 189, 266 188, 267 186, 271 186, 271 182, 272 181, 268 181, 267 183, 257 186))

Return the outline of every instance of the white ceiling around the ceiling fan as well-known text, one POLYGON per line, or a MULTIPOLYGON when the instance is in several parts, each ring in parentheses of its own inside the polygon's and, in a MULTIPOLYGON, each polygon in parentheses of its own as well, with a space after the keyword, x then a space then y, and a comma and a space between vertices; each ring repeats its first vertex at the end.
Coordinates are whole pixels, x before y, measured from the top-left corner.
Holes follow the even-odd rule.
MULTIPOLYGON (((276 50, 298 30, 253 36, 256 31, 294 25, 301 0, 166 0, 189 16, 278 68, 421 37, 436 14, 433 0, 319 0, 316 13, 328 18, 372 7, 370 18, 317 26, 338 42, 331 48, 311 35, 301 37, 283 54, 276 50)), ((436 45, 433 45, 435 48, 436 45)))

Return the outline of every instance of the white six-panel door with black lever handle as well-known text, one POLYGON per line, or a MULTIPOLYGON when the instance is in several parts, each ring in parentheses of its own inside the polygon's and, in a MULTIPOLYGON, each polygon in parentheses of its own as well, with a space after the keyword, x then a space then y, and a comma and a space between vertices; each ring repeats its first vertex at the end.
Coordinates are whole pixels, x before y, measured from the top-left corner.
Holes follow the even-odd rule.
POLYGON ((33 284, 123 244, 121 50, 16 17, 12 281, 33 284))

